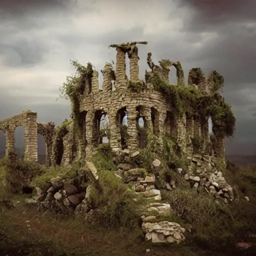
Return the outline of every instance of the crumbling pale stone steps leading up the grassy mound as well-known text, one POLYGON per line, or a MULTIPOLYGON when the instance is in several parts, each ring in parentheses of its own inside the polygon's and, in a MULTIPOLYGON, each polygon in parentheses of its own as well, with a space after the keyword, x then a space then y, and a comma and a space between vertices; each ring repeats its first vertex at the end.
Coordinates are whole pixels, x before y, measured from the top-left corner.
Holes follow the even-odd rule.
POLYGON ((160 190, 155 189, 154 174, 134 168, 124 171, 122 180, 145 200, 145 204, 141 205, 141 227, 146 240, 170 243, 185 240, 185 228, 167 220, 170 218, 170 204, 162 202, 160 190))

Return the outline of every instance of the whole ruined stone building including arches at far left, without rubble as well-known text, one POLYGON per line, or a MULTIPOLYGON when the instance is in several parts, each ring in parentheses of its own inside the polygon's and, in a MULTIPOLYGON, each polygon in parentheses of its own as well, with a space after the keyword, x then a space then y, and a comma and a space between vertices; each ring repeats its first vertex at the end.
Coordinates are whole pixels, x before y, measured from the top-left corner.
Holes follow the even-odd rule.
MULTIPOLYGON (((156 65, 148 53, 147 63, 151 71, 146 72, 145 81, 139 80, 138 47, 139 42, 111 45, 116 48, 115 68, 105 63, 101 70, 103 74, 102 88, 99 89, 98 72, 93 70, 91 76, 86 76, 83 86, 77 96, 77 126, 72 119, 65 120, 55 127, 53 122, 37 122, 37 113, 30 110, 0 121, 0 130, 6 138, 6 154, 14 149, 14 130, 16 126, 24 126, 25 155, 28 160, 37 160, 37 133, 44 136, 46 144, 46 163, 55 165, 71 162, 75 158, 90 157, 102 142, 100 120, 108 116, 108 143, 113 150, 128 148, 131 152, 144 147, 138 132, 138 120, 143 119, 146 130, 157 136, 158 144, 162 146, 163 137, 171 136, 181 151, 186 154, 194 152, 192 139, 200 138, 202 148, 209 141, 208 122, 200 120, 199 116, 188 116, 183 112, 175 116, 170 102, 156 90, 148 77, 158 74, 168 82, 170 67, 176 68, 177 85, 184 84, 184 74, 180 62, 166 59, 156 65), (125 55, 129 57, 129 79, 125 73, 125 55), (132 90, 133 86, 133 90, 132 90), (140 88, 134 91, 135 87, 140 88), (122 119, 127 114, 125 138, 122 134, 122 119)), ((145 44, 145 43, 144 43, 145 44)), ((198 90, 210 93, 210 80, 206 79, 196 68, 189 71, 188 84, 194 84, 198 90)), ((185 85, 183 85, 185 86, 185 85)), ((136 88, 135 88, 136 89, 136 88)), ((224 137, 217 138, 214 148, 218 156, 224 156, 224 137)))

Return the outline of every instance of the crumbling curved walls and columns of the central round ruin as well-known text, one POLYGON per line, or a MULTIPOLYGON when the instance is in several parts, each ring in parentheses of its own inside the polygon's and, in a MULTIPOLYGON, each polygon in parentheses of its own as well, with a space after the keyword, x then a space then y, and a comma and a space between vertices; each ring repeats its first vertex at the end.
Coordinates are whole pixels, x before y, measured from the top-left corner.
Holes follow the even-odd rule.
MULTIPOLYGON (((162 144, 162 137, 165 134, 177 142, 181 150, 185 153, 192 154, 194 146, 192 140, 197 139, 197 143, 202 143, 202 150, 205 150, 208 143, 209 136, 207 132, 207 123, 201 122, 199 116, 187 117, 186 113, 180 116, 174 116, 170 120, 169 113, 173 112, 171 98, 166 98, 161 92, 156 91, 146 81, 146 87, 133 93, 128 89, 128 82, 125 74, 125 54, 128 54, 130 65, 130 80, 138 81, 138 48, 136 42, 113 44, 111 47, 116 48, 116 68, 110 63, 106 63, 104 69, 101 70, 103 74, 102 89, 93 87, 92 93, 83 97, 79 103, 80 112, 86 112, 86 147, 85 155, 89 157, 95 152, 98 145, 97 130, 95 123, 95 114, 97 111, 106 112, 109 116, 109 144, 114 149, 121 149, 121 134, 118 112, 121 109, 127 111, 127 148, 135 150, 139 147, 138 134, 137 134, 137 109, 140 106, 140 116, 146 123, 146 129, 155 133, 158 137, 159 144, 162 144), (113 84, 115 90, 113 90, 113 84), (152 120, 152 109, 154 109, 155 119, 152 120), (153 123, 154 122, 154 123, 153 123), (157 129, 155 129, 157 123, 157 129), (167 127, 167 128, 166 128, 167 127)), ((177 85, 184 86, 184 74, 179 61, 172 62, 168 59, 162 59, 159 65, 154 64, 151 59, 151 53, 147 55, 147 63, 151 68, 150 74, 157 74, 161 79, 168 82, 168 75, 170 66, 175 66, 177 75, 177 85)), ((198 89, 207 93, 207 82, 200 68, 192 68, 188 75, 188 84, 196 84, 198 89)))

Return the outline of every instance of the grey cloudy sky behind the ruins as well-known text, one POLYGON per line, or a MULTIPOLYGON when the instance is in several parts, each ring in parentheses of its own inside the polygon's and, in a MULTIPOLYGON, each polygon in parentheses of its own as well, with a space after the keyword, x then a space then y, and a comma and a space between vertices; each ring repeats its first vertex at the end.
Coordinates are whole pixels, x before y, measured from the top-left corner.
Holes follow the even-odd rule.
POLYGON ((186 77, 197 66, 224 76, 237 118, 226 151, 255 154, 255 9, 255 0, 0 0, 0 119, 30 109, 59 125, 70 113, 68 101, 56 101, 69 59, 99 71, 115 61, 109 44, 146 40, 141 78, 149 51, 154 62, 179 60, 186 77))

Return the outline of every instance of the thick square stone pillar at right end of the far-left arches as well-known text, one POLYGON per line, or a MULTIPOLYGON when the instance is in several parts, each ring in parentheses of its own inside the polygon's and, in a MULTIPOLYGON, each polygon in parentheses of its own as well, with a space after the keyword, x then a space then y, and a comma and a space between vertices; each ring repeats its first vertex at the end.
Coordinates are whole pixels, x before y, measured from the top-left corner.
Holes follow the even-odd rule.
POLYGON ((24 138, 25 153, 24 159, 37 161, 37 113, 27 111, 24 113, 24 138))

